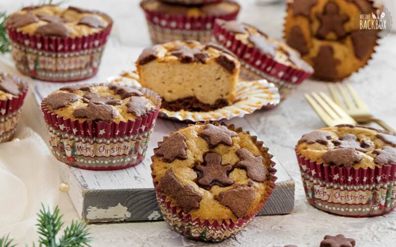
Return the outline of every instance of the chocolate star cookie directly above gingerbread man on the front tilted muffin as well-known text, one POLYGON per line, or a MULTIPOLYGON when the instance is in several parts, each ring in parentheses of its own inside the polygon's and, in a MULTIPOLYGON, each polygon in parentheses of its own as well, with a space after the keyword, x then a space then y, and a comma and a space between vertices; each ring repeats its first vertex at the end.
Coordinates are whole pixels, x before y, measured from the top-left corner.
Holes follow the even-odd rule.
POLYGON ((213 124, 206 124, 203 130, 198 134, 206 140, 209 148, 213 149, 220 144, 232 146, 231 137, 237 136, 237 132, 229 130, 226 126, 215 126, 213 124))

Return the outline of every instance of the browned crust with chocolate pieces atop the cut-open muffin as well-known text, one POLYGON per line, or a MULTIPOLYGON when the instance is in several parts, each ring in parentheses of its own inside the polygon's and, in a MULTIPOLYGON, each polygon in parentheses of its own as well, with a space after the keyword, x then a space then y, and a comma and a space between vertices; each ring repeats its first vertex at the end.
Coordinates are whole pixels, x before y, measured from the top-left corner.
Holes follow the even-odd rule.
POLYGON ((139 56, 137 67, 151 61, 207 64, 215 61, 230 73, 241 67, 238 59, 231 52, 216 44, 201 44, 198 41, 171 41, 150 46, 139 56))

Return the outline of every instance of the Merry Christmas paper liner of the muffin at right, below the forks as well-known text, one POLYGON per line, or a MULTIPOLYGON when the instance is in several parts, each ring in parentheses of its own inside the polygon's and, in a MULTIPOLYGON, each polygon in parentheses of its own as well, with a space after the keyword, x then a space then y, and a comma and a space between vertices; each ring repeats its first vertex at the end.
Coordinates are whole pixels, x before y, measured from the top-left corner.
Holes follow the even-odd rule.
POLYGON ((351 217, 383 215, 396 207, 396 164, 355 169, 319 164, 296 154, 312 206, 351 217))

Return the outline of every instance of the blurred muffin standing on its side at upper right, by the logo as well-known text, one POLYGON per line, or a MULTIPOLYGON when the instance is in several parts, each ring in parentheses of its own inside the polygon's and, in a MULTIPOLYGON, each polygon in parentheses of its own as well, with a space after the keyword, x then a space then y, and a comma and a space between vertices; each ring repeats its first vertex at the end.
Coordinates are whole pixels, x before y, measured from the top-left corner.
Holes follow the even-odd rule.
POLYGON ((360 30, 359 14, 376 13, 371 0, 288 0, 284 37, 314 68, 314 76, 338 81, 365 66, 378 30, 360 30), (357 19, 356 19, 357 18, 357 19))

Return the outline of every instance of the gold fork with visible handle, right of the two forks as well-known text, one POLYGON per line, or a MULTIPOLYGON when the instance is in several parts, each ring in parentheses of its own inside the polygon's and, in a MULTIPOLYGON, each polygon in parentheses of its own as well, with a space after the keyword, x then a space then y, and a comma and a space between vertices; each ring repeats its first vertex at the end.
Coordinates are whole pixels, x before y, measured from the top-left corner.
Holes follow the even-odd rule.
POLYGON ((358 123, 377 123, 386 130, 395 132, 395 130, 384 121, 375 118, 366 103, 357 95, 351 84, 346 83, 345 87, 341 83, 328 85, 333 100, 343 108, 349 116, 358 123), (345 89, 347 88, 347 90, 345 89), (336 93, 338 91, 339 93, 336 93), (340 97, 341 95, 341 97, 340 97))

